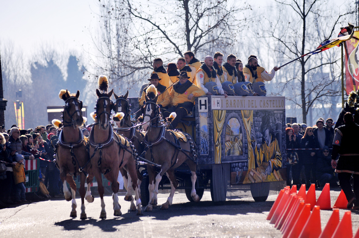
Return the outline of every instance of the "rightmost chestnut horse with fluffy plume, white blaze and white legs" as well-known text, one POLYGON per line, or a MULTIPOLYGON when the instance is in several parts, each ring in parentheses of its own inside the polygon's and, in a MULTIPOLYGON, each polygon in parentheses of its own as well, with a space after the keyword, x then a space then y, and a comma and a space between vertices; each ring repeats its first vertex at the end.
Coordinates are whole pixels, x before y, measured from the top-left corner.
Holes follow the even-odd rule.
MULTIPOLYGON (((148 122, 143 125, 143 129, 146 131, 143 140, 146 145, 145 150, 149 148, 146 152, 145 159, 161 165, 161 168, 155 177, 155 167, 147 165, 150 183, 148 187, 150 202, 146 206, 145 211, 150 212, 152 211, 153 205, 157 205, 158 185, 164 174, 167 175, 171 182, 171 193, 169 194, 167 201, 161 205, 160 209, 168 209, 168 207, 172 205, 173 195, 178 186, 177 179, 174 175, 174 169, 179 167, 182 163, 186 163, 188 167, 190 167, 192 174, 191 197, 195 202, 199 202, 200 198, 195 190, 195 183, 197 180, 197 164, 195 163, 197 152, 195 144, 193 143, 191 136, 187 133, 183 133, 187 138, 187 142, 183 142, 182 140, 177 140, 171 131, 165 129, 165 125, 160 122, 161 113, 159 106, 156 104, 158 96, 149 99, 148 95, 149 94, 147 93, 145 96, 146 103, 142 108, 142 118, 144 119, 144 123, 148 122), (154 180, 156 180, 155 184, 154 180)), ((155 92, 154 95, 157 95, 157 92, 155 92)))

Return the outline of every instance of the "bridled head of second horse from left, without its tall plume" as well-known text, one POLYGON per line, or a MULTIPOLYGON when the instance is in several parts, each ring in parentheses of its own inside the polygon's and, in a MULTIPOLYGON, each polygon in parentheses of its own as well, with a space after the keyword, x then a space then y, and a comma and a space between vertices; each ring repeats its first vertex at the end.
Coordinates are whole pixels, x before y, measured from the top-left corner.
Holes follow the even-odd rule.
POLYGON ((111 101, 111 96, 113 89, 109 93, 101 93, 96 89, 97 101, 96 101, 96 118, 99 123, 99 127, 103 130, 107 130, 109 125, 109 120, 111 116, 111 110, 113 103, 111 101))

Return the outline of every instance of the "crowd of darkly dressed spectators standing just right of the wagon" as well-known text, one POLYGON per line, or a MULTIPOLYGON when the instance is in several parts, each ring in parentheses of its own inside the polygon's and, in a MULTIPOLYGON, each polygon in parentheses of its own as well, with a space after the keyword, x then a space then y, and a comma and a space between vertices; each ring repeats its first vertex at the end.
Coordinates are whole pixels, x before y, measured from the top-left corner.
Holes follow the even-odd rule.
POLYGON ((287 185, 338 186, 338 176, 331 165, 334 125, 332 118, 326 121, 319 118, 313 127, 304 123, 286 124, 287 185))

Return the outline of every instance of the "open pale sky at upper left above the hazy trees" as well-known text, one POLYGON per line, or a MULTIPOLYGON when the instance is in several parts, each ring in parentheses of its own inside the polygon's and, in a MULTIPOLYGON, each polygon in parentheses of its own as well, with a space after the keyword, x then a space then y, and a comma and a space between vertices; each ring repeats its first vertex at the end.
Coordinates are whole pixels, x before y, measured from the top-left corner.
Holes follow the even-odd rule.
POLYGON ((0 41, 11 40, 29 55, 46 43, 81 51, 95 25, 95 0, 0 0, 0 41))

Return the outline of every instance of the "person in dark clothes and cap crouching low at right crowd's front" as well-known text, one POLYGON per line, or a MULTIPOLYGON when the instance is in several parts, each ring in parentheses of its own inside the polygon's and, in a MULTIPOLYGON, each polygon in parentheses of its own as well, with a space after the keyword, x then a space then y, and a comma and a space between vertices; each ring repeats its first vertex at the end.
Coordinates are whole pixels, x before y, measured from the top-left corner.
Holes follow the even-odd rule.
POLYGON ((330 154, 329 147, 325 145, 317 159, 317 179, 321 187, 326 183, 330 183, 331 186, 337 185, 338 175, 334 172, 335 169, 332 167, 331 162, 332 155, 330 154))

